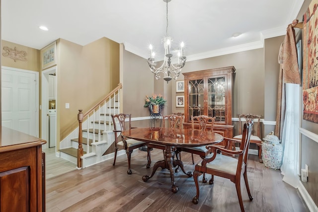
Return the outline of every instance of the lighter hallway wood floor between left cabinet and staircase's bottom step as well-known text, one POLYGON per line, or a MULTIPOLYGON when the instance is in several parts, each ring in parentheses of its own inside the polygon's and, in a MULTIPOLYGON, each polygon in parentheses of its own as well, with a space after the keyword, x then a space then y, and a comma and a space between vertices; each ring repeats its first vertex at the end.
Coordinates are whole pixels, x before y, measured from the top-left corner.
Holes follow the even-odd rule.
POLYGON ((45 178, 46 180, 77 170, 76 164, 55 156, 55 148, 43 149, 45 152, 45 178))

